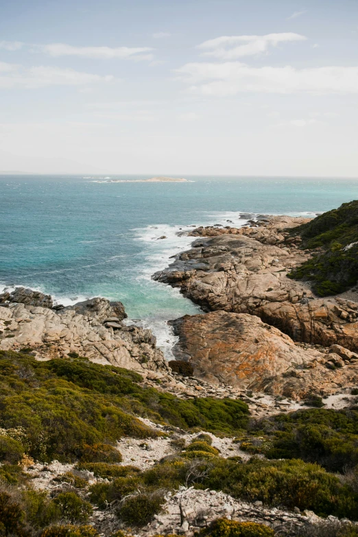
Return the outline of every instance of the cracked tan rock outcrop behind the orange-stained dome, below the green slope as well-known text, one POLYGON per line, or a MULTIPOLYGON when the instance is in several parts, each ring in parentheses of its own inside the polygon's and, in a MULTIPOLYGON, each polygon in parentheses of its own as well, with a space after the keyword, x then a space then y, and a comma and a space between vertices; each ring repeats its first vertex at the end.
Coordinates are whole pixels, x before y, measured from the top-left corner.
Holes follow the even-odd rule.
POLYGON ((153 277, 180 287, 204 311, 258 315, 295 341, 358 351, 358 304, 315 298, 308 285, 287 277, 311 255, 299 250, 297 237, 285 231, 301 223, 302 219, 273 217, 235 233, 232 228, 197 228, 192 234, 204 238, 153 277))

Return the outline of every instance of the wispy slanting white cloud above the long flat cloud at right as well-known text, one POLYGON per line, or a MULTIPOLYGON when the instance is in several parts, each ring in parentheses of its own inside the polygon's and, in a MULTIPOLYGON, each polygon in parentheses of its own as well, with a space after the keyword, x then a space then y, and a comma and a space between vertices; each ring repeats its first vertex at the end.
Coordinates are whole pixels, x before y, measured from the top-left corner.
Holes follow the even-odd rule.
POLYGON ((278 43, 306 39, 307 37, 293 32, 265 36, 222 36, 204 41, 198 45, 198 48, 204 51, 204 56, 213 56, 221 60, 235 60, 243 56, 256 56, 265 53, 269 47, 276 47, 278 43))

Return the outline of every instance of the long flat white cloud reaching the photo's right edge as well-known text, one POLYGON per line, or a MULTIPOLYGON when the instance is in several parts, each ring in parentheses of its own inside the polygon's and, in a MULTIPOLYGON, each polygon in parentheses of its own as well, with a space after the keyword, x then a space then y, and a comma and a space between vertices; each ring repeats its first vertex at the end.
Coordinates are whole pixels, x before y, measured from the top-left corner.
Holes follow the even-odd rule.
POLYGON ((250 67, 241 62, 188 63, 175 71, 199 95, 358 93, 358 67, 250 67))

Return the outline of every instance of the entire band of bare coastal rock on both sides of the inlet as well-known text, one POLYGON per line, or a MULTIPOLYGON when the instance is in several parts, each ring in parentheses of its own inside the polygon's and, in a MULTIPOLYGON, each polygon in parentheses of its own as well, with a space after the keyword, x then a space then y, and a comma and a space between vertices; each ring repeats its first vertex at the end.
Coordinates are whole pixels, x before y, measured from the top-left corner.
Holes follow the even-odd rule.
POLYGON ((154 274, 208 312, 171 322, 174 355, 191 364, 190 377, 171 370, 150 330, 123 322, 121 302, 104 298, 62 307, 30 289, 4 293, 0 348, 28 347, 37 359, 77 353, 136 370, 180 397, 250 391, 265 395, 270 411, 278 397, 293 409, 312 393, 349 395, 358 385, 358 303, 317 298, 309 285, 287 277, 311 256, 290 232, 307 221, 261 217, 242 228, 195 228, 192 248, 154 274))

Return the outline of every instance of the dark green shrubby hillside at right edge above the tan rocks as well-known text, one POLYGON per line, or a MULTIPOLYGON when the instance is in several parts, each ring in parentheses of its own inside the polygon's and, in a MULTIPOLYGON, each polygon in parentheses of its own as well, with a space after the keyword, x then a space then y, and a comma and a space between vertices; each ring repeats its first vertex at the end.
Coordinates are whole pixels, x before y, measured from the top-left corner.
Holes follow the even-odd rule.
POLYGON ((312 259, 289 277, 313 283, 318 296, 342 293, 358 281, 358 201, 344 203, 292 230, 303 248, 315 250, 312 259))

